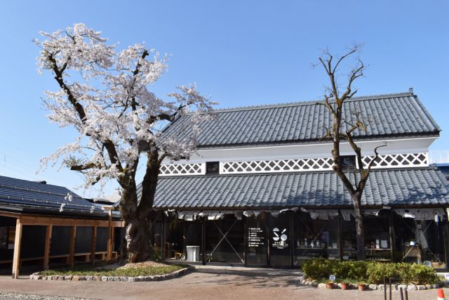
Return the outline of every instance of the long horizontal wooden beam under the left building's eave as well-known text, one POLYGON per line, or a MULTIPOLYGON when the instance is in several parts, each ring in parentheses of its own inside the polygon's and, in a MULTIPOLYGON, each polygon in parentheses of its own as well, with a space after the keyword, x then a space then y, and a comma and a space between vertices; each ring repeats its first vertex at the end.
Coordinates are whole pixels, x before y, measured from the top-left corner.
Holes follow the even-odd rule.
MULTIPOLYGON (((23 225, 53 225, 53 226, 98 226, 107 227, 109 221, 107 220, 89 220, 89 219, 66 219, 66 218, 53 218, 46 216, 20 216, 23 225)), ((112 221, 113 227, 123 227, 123 221, 112 221)))

